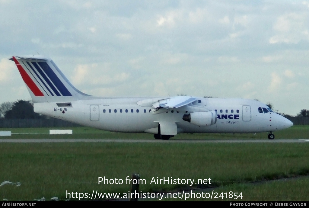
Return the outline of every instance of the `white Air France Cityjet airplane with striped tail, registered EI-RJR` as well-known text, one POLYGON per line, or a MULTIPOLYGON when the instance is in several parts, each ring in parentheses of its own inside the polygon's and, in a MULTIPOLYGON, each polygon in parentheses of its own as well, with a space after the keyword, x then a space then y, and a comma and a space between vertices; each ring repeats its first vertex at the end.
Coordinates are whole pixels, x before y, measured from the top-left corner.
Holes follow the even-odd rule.
POLYGON ((34 111, 112 132, 150 133, 167 140, 179 133, 257 133, 293 123, 267 105, 247 99, 194 96, 110 98, 77 90, 56 64, 41 55, 13 56, 34 111))

